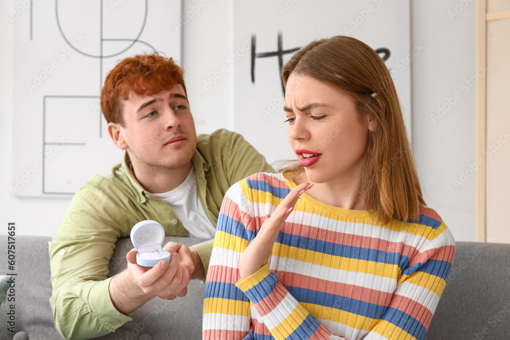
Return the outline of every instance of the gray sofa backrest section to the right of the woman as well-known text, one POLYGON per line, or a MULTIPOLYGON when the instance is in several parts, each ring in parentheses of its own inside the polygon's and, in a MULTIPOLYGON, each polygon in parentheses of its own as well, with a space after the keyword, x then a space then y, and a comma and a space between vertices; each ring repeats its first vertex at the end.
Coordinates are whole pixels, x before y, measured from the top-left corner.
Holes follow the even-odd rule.
POLYGON ((510 244, 456 242, 433 339, 510 339, 510 244))

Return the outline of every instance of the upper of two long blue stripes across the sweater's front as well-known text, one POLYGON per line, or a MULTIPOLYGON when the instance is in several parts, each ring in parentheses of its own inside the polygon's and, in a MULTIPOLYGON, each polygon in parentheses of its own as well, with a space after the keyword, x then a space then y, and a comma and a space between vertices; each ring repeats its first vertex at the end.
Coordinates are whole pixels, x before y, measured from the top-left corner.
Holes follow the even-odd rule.
POLYGON ((328 255, 375 261, 389 265, 398 265, 401 268, 405 268, 405 266, 409 264, 409 258, 400 253, 341 245, 333 242, 285 233, 282 231, 279 232, 276 242, 290 247, 317 251, 328 255))

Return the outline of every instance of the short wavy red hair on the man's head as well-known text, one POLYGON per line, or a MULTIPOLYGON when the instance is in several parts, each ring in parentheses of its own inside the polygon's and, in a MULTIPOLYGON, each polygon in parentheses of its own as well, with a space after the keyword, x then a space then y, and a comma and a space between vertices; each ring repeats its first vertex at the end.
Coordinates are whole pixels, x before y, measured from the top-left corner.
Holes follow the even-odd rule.
POLYGON ((186 93, 184 71, 172 58, 157 53, 126 58, 106 76, 101 90, 101 110, 107 122, 124 126, 123 101, 131 93, 150 96, 169 90, 175 84, 181 84, 186 93))

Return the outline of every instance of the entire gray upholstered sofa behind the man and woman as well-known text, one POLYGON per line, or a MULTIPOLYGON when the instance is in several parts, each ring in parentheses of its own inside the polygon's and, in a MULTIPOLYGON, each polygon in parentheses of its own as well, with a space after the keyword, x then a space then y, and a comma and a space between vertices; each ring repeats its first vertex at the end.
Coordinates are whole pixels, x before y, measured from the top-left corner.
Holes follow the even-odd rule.
MULTIPOLYGON (((15 333, 7 330, 7 304, 0 306, 0 339, 59 339, 49 306, 49 237, 16 236, 15 333)), ((193 245, 202 240, 166 237, 168 241, 193 245)), ((7 237, 0 237, 7 245, 7 237)), ((0 247, 7 258, 7 246, 0 247)), ((126 267, 129 239, 117 242, 110 275, 126 267)), ((6 271, 6 261, 2 261, 6 271)), ((4 275, 5 271, 0 272, 4 275)), ((155 298, 132 315, 133 321, 101 339, 199 339, 202 329, 204 285, 193 280, 184 298, 155 298)), ((427 333, 427 339, 510 338, 510 245, 457 242, 455 261, 427 333)))

